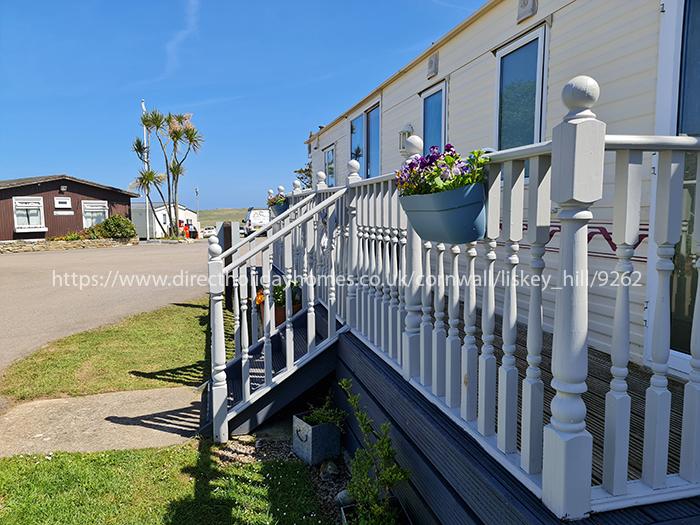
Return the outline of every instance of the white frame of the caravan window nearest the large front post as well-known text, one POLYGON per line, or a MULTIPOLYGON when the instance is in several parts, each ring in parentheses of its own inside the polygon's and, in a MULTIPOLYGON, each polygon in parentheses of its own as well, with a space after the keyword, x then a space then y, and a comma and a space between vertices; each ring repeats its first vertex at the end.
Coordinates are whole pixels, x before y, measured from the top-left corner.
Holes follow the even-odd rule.
POLYGON ((509 55, 513 51, 529 44, 533 40, 539 40, 537 45, 537 82, 536 82, 536 98, 535 98, 535 135, 531 144, 542 142, 546 135, 547 124, 547 70, 549 62, 549 31, 547 24, 533 29, 529 33, 510 42, 509 44, 498 49, 496 54, 496 102, 494 111, 494 134, 493 147, 499 150, 499 134, 500 134, 500 111, 501 111, 501 61, 504 56, 509 55))

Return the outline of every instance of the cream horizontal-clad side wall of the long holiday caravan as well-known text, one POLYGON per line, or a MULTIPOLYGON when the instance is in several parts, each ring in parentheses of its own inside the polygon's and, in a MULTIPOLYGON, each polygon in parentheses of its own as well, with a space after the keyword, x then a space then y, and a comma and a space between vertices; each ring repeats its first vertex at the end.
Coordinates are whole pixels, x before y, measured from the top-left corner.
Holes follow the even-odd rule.
MULTIPOLYGON (((594 107, 597 117, 614 134, 653 134, 656 105, 656 70, 658 59, 659 3, 651 0, 635 2, 616 0, 541 0, 538 13, 516 22, 517 0, 492 2, 480 15, 458 34, 441 45, 434 46, 429 55, 439 53, 439 72, 427 79, 428 56, 407 68, 405 72, 384 85, 375 95, 381 100, 382 172, 391 173, 403 158, 398 151, 398 132, 410 123, 415 133, 422 129, 422 99, 420 93, 432 86, 447 84, 447 137, 457 151, 495 146, 496 65, 495 51, 541 23, 547 24, 549 45, 546 62, 545 139, 561 122, 567 109, 561 102, 566 82, 577 75, 593 77, 600 85, 601 95, 594 107)), ((367 109, 375 96, 369 94, 345 116, 367 109)), ((329 143, 343 145, 336 149, 336 184, 345 184, 349 160, 347 119, 341 118, 317 135, 318 149, 312 150, 314 172, 323 169, 320 151, 329 143)), ((608 235, 612 233, 614 159, 606 155, 604 196, 594 208, 591 223, 593 234, 589 244, 590 275, 610 275, 616 264, 615 252, 608 235), (596 272, 598 272, 596 274, 596 272), (602 272, 602 273, 601 273, 602 272)), ((647 167, 642 183, 642 235, 648 231, 651 198, 651 155, 646 155, 647 167)), ((527 193, 525 196, 527 204, 527 193)), ((527 217, 527 212, 525 214, 527 217)), ((557 226, 556 215, 552 215, 557 226)), ((558 235, 555 234, 545 255, 545 275, 556 283, 558 235)), ((520 268, 529 272, 529 250, 526 238, 521 244, 520 268)), ((631 289, 632 360, 641 363, 643 355, 644 304, 646 283, 647 241, 643 240, 633 259, 639 272, 641 286, 631 289)), ((477 268, 483 269, 481 247, 477 268)), ((505 270, 505 249, 499 243, 496 271, 505 270)), ((589 290, 589 343, 600 350, 611 347, 611 323, 616 288, 594 286, 589 290)), ((527 321, 529 290, 519 288, 520 320, 527 321)), ((502 307, 503 292, 499 288, 497 308, 502 307)), ((543 294, 545 326, 553 328, 553 291, 543 294)))

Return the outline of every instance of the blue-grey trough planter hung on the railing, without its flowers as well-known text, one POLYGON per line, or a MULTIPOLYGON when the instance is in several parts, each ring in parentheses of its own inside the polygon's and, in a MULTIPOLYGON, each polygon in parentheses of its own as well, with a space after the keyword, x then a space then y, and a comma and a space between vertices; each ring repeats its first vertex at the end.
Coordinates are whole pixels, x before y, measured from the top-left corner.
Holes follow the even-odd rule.
POLYGON ((486 233, 485 190, 470 184, 431 195, 399 197, 411 226, 424 241, 464 244, 486 233))

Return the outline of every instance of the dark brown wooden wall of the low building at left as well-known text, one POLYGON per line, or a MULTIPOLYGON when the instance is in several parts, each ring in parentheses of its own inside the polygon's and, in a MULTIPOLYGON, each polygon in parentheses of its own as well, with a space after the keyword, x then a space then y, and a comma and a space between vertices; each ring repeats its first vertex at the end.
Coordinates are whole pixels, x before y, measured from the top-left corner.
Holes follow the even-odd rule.
MULTIPOLYGON (((0 189, 0 240, 44 239, 62 237, 69 232, 83 229, 83 200, 101 200, 109 204, 109 215, 124 215, 131 219, 131 197, 103 188, 82 184, 74 180, 53 180, 27 186, 0 189), (61 186, 68 186, 65 193, 61 186), (44 201, 44 222, 48 231, 15 233, 14 208, 12 197, 37 196, 44 201), (70 197, 73 215, 54 215, 54 197, 70 197)), ((69 211, 61 208, 59 211, 69 211)))

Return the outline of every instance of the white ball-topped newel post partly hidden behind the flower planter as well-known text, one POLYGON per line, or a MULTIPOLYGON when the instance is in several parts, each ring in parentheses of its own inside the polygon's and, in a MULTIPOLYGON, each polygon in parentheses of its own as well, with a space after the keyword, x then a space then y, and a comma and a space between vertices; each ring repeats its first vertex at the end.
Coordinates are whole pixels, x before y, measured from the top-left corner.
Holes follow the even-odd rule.
MULTIPOLYGON (((417 135, 411 135, 406 139, 406 150, 411 157, 420 155, 423 151, 423 140, 417 135)), ((404 379, 409 380, 420 375, 420 279, 423 276, 423 268, 421 261, 422 241, 411 227, 410 221, 407 220, 406 223, 406 251, 404 257, 406 261, 406 286, 404 288, 406 318, 401 341, 401 365, 404 379)))

